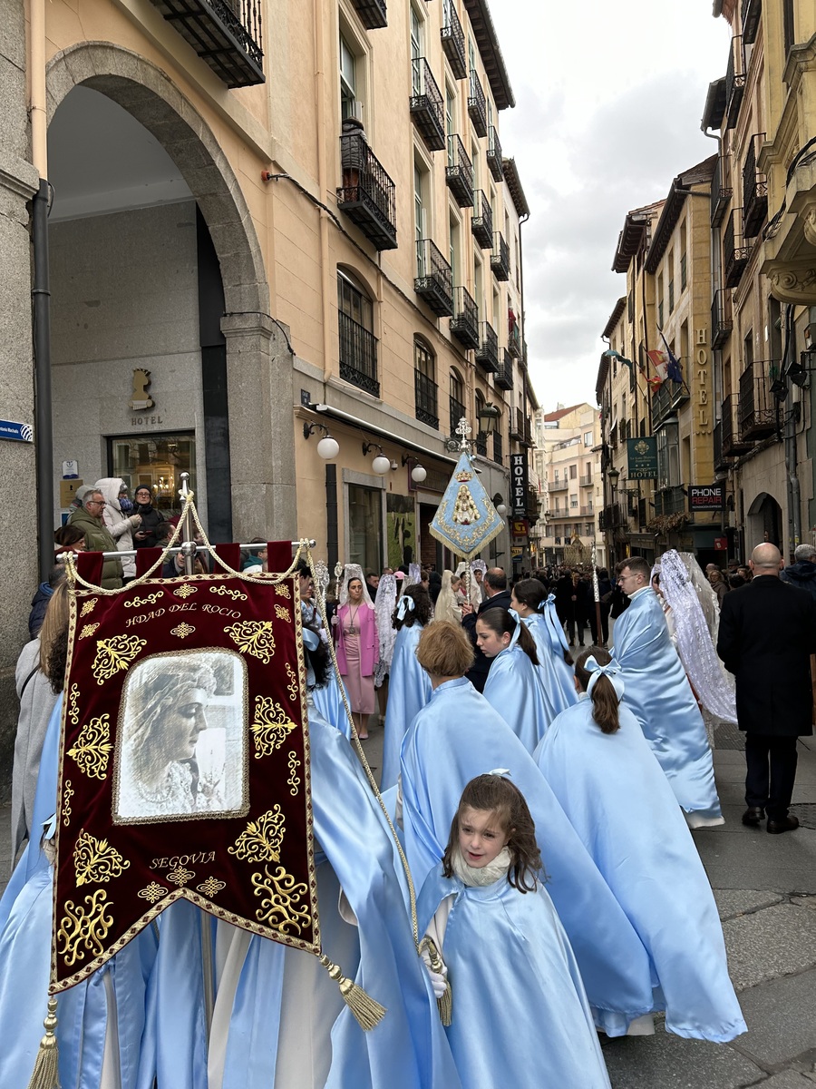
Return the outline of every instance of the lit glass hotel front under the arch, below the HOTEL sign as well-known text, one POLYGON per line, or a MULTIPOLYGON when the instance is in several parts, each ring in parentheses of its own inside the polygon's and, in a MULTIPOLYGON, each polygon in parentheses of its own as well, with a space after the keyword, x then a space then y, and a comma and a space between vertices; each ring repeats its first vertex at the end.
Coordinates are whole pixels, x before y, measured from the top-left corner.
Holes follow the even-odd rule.
POLYGON ((169 518, 181 513, 182 473, 189 473, 189 487, 195 491, 196 437, 191 431, 108 439, 108 475, 121 477, 131 497, 140 485, 152 488, 154 505, 169 518))

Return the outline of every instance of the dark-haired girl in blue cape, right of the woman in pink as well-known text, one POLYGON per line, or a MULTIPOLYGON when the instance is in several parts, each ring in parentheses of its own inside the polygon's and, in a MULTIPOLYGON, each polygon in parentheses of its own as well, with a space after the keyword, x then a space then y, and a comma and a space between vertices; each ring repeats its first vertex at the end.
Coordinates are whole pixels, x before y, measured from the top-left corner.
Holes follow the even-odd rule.
POLYGON ((388 680, 381 791, 396 786, 403 738, 415 714, 425 706, 431 696, 431 682, 417 661, 417 644, 430 620, 431 598, 428 590, 421 584, 409 586, 400 597, 393 616, 397 638, 388 680))

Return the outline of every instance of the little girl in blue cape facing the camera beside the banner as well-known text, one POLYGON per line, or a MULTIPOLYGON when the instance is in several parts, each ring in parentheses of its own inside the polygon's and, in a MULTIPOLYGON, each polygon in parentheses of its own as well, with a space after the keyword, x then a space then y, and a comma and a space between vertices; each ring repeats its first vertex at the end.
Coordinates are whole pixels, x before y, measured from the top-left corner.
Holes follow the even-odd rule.
POLYGON ((468 783, 419 905, 453 987, 446 1031, 467 1089, 609 1089, 578 964, 541 869, 518 788, 496 772, 468 783))

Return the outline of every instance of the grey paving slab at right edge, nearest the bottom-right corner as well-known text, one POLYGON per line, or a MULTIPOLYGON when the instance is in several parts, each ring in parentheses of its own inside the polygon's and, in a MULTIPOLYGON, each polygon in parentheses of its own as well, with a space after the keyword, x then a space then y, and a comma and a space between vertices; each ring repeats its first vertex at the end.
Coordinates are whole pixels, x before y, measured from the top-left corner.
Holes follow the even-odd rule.
POLYGON ((749 1026, 739 1042, 743 1054, 767 1067, 790 1064, 816 1049, 816 971, 755 987, 740 995, 740 1004, 749 1026))

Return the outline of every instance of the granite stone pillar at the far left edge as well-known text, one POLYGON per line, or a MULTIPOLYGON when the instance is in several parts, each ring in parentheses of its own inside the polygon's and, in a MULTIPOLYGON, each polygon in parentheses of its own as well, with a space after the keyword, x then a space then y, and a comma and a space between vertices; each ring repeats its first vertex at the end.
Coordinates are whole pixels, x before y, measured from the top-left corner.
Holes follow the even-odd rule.
MULTIPOLYGON (((27 201, 39 178, 28 161, 25 23, 22 0, 0 0, 0 387, 4 419, 34 424, 30 236, 27 201)), ((14 666, 28 641, 37 588, 35 446, 0 441, 0 802, 11 792, 18 703, 14 666)))

